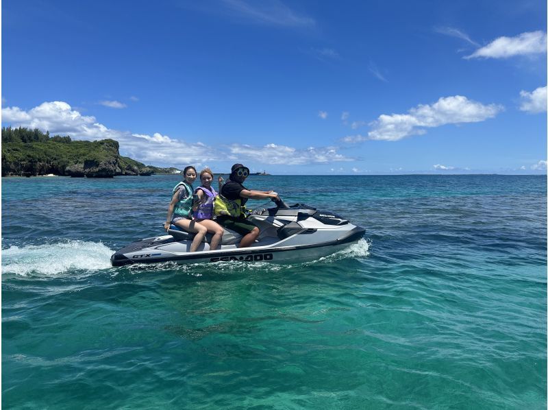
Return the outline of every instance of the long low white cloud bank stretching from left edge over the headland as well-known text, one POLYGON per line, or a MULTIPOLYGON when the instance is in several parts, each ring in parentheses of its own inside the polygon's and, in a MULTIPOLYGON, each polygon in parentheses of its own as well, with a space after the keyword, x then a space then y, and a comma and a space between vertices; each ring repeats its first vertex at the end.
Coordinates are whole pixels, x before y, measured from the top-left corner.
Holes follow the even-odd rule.
POLYGON ((336 147, 296 149, 269 144, 263 147, 234 144, 229 147, 186 143, 156 132, 152 135, 107 128, 95 117, 84 116, 63 101, 40 104, 31 110, 18 107, 2 108, 2 122, 14 126, 38 128, 51 135, 70 135, 76 140, 95 141, 112 138, 120 143, 123 156, 152 165, 182 166, 188 162, 220 160, 251 160, 263 164, 305 165, 349 161, 338 154, 336 147), (228 153, 228 155, 227 155, 228 153))

